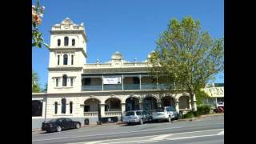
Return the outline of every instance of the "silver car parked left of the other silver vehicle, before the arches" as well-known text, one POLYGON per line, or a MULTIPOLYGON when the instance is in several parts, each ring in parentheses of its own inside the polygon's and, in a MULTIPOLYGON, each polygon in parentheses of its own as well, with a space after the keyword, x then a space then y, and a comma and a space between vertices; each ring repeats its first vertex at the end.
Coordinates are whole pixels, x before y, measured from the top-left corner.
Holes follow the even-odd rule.
POLYGON ((126 122, 127 125, 130 125, 131 123, 139 123, 143 125, 143 123, 146 122, 146 112, 143 110, 127 111, 122 117, 122 121, 126 122))

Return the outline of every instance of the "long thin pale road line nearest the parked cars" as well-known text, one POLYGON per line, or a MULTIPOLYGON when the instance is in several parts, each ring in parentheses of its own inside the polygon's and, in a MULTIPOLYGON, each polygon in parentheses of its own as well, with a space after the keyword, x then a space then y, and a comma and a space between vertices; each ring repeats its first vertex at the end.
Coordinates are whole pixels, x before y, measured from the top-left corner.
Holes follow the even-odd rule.
POLYGON ((110 133, 110 134, 95 134, 95 135, 86 135, 86 136, 77 136, 77 137, 65 137, 65 138, 49 138, 49 139, 41 139, 41 140, 34 140, 32 142, 40 142, 40 141, 50 141, 56 139, 69 139, 69 138, 86 138, 86 137, 93 137, 93 136, 104 136, 104 135, 111 135, 111 134, 129 134, 129 133, 138 133, 143 131, 154 131, 154 130, 168 130, 168 129, 178 129, 182 127, 170 127, 165 129, 153 129, 153 130, 137 130, 137 131, 126 131, 126 132, 119 132, 119 133, 110 133))

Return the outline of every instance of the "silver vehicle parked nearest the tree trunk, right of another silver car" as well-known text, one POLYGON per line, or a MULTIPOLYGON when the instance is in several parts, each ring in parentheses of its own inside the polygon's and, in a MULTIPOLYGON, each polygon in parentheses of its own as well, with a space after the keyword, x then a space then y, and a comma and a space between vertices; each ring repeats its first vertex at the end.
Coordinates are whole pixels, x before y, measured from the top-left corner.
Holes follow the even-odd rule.
POLYGON ((154 121, 167 120, 168 122, 171 122, 172 119, 178 119, 178 118, 179 118, 179 114, 172 106, 159 107, 153 113, 154 121))

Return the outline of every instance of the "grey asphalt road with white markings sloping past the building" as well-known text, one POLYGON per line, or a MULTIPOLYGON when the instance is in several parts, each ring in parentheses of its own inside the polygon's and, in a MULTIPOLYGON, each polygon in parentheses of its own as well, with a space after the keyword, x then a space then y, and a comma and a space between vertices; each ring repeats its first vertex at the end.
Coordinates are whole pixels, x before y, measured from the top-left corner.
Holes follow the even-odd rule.
POLYGON ((192 122, 157 122, 144 125, 91 126, 60 133, 32 133, 43 143, 224 143, 224 116, 192 122))

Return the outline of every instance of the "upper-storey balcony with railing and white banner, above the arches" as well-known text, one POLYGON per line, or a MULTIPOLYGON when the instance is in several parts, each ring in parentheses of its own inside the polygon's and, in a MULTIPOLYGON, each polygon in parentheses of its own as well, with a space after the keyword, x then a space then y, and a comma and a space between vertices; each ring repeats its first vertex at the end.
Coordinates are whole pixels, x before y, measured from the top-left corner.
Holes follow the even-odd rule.
POLYGON ((106 90, 166 90, 165 78, 148 74, 102 74, 82 76, 82 91, 106 90))

